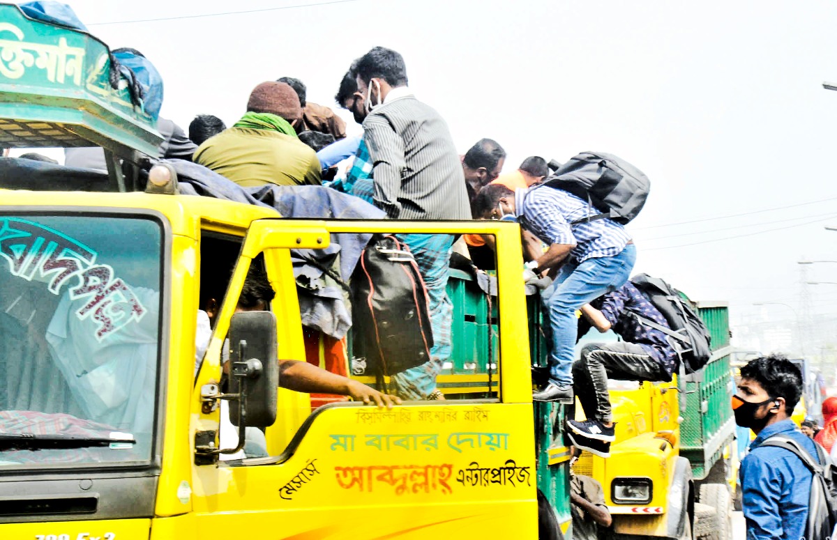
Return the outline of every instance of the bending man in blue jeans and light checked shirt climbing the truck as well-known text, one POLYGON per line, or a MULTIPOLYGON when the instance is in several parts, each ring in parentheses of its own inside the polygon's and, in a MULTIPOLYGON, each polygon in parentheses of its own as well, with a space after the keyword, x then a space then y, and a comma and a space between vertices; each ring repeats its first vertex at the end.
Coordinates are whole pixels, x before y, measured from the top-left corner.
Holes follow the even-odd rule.
POLYGON ((534 400, 573 402, 575 312, 622 287, 634 267, 636 249, 624 227, 607 218, 586 221, 599 213, 587 201, 544 185, 511 191, 492 184, 474 202, 475 217, 520 222, 549 246, 546 252, 526 252, 529 270, 555 278, 541 293, 552 329, 549 383, 534 400))

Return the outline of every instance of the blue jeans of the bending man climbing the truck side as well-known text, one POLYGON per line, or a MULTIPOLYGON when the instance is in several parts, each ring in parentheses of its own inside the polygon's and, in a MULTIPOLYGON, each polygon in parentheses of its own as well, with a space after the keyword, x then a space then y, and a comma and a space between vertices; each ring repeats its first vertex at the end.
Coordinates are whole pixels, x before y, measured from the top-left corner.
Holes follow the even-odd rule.
POLYGON ((549 313, 552 348, 549 351, 549 380, 557 385, 573 385, 573 360, 578 334, 576 310, 603 294, 624 285, 636 262, 634 244, 613 257, 589 258, 581 264, 567 263, 552 285, 541 294, 549 313))

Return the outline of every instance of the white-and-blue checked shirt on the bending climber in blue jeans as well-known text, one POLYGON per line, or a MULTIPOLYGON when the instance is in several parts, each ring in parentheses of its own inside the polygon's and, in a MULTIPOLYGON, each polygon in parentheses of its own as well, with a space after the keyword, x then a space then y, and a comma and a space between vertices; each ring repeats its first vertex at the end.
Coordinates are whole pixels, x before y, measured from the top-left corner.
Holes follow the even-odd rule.
POLYGON ((630 242, 624 227, 608 218, 572 225, 599 213, 577 196, 549 186, 515 191, 515 214, 521 224, 547 245, 574 245, 570 252, 574 262, 614 257, 630 242))

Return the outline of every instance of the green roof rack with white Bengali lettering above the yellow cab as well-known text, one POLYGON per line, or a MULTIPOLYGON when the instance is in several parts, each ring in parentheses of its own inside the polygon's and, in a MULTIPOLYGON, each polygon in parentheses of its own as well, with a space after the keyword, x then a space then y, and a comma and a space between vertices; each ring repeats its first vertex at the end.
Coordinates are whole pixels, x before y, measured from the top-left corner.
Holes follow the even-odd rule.
POLYGON ((162 136, 124 84, 111 86, 110 69, 100 39, 0 3, 0 146, 101 146, 110 180, 128 191, 137 167, 126 178, 119 160, 156 156, 162 136))

